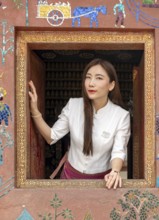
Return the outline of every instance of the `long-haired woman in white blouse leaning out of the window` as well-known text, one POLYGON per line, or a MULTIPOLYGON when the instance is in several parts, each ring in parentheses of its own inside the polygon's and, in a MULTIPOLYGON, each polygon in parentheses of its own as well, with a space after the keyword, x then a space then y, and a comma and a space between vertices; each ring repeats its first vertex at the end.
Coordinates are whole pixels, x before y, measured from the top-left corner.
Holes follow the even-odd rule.
POLYGON ((120 170, 130 136, 129 112, 122 108, 117 75, 107 61, 95 59, 83 73, 83 98, 70 98, 50 128, 37 107, 37 93, 29 82, 32 118, 49 144, 70 132, 63 179, 101 179, 108 189, 122 186, 120 170))

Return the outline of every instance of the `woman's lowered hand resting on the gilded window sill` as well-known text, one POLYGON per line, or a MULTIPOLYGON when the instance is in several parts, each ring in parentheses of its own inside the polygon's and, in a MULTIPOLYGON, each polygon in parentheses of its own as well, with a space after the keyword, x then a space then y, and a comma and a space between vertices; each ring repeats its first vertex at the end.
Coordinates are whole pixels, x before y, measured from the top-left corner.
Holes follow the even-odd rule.
POLYGON ((117 187, 122 186, 122 179, 120 176, 120 172, 112 170, 110 173, 105 175, 104 177, 105 182, 106 182, 106 187, 108 189, 114 188, 116 189, 117 187))

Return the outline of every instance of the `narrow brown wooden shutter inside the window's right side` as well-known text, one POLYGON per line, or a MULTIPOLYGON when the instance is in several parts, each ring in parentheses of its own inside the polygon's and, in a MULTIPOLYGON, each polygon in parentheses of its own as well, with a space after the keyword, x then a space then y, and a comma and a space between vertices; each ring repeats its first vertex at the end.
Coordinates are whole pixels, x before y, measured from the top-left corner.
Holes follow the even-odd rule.
POLYGON ((144 179, 144 60, 133 70, 133 179, 144 179))

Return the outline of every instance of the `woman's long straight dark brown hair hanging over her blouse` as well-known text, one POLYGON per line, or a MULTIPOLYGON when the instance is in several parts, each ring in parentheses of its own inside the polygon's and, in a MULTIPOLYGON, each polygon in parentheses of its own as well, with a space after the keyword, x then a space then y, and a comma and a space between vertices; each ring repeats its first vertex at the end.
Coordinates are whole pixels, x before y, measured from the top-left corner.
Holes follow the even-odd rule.
POLYGON ((91 100, 87 96, 85 88, 85 78, 88 70, 96 65, 100 65, 108 74, 110 82, 115 81, 115 86, 112 91, 109 92, 108 98, 114 103, 123 107, 123 101, 119 89, 119 83, 116 71, 111 63, 103 59, 92 60, 84 69, 82 80, 82 93, 84 99, 84 145, 83 153, 85 155, 93 155, 93 143, 92 143, 92 127, 93 127, 93 106, 91 100))

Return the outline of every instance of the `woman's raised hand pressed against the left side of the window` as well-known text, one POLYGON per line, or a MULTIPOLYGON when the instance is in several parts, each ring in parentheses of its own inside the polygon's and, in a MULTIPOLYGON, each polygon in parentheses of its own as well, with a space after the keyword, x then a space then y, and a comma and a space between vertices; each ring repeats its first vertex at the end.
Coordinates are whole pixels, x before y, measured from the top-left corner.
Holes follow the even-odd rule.
POLYGON ((30 111, 31 113, 34 115, 37 112, 39 112, 38 110, 38 96, 36 93, 36 88, 34 86, 34 83, 32 81, 29 81, 29 97, 30 97, 30 111))

